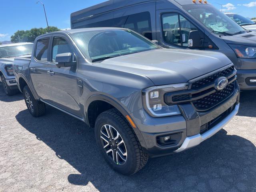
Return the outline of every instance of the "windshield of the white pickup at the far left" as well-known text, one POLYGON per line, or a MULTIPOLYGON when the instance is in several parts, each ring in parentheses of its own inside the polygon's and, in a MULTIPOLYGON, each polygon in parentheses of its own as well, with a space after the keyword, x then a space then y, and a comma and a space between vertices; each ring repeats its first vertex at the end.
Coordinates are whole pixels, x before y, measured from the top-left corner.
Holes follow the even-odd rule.
POLYGON ((0 47, 0 58, 28 55, 32 49, 33 44, 0 47))

